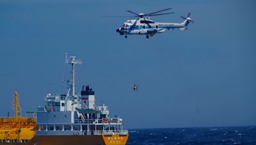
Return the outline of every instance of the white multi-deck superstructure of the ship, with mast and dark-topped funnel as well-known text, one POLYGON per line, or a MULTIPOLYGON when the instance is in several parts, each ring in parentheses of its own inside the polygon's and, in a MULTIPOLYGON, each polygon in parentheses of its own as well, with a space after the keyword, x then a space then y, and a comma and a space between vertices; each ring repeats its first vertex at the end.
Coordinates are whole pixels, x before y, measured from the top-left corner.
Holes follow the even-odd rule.
POLYGON ((127 141, 128 131, 123 129, 122 118, 111 118, 104 104, 96 106, 95 92, 90 86, 83 86, 81 93, 76 94, 75 66, 82 62, 76 57, 67 60, 66 55, 66 63, 72 66, 72 84, 65 94, 47 94, 45 106, 37 107, 36 135, 118 135, 113 143, 122 142, 123 137, 127 141))

